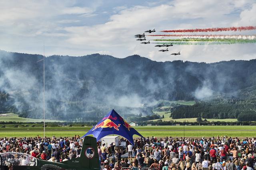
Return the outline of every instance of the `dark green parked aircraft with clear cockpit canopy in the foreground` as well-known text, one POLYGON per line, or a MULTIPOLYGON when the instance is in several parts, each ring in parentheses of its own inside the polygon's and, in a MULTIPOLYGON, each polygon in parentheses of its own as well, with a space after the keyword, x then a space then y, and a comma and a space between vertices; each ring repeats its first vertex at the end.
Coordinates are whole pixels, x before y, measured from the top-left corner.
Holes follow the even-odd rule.
POLYGON ((100 169, 99 155, 96 138, 86 136, 80 157, 64 162, 50 162, 34 158, 29 154, 20 152, 0 153, 0 170, 8 170, 8 165, 12 164, 14 170, 95 170, 100 169), (22 165, 19 159, 24 159, 22 165))

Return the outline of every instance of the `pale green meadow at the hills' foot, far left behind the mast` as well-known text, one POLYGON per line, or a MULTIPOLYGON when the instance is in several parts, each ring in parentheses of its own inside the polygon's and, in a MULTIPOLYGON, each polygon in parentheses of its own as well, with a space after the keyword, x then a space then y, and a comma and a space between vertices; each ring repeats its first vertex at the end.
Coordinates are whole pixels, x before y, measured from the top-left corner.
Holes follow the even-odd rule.
MULTIPOLYGON (((24 118, 24 117, 18 117, 18 115, 14 113, 6 113, 6 117, 0 117, 0 121, 16 121, 16 122, 41 122, 44 121, 44 119, 30 119, 30 118, 24 118)), ((49 120, 45 119, 46 122, 62 122, 58 120, 49 120)))

